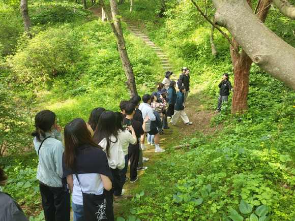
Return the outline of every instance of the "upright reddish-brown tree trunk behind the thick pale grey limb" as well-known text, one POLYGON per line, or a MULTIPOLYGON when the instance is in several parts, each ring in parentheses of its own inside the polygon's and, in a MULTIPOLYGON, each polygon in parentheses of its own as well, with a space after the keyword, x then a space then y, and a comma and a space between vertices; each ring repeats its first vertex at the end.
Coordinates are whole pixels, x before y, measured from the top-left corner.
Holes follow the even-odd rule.
MULTIPOLYGON (((264 22, 268 16, 271 0, 262 0, 259 5, 257 17, 264 22)), ((248 2, 251 7, 251 2, 248 2)), ((239 48, 239 44, 232 38, 235 48, 239 48)), ((231 100, 231 113, 244 113, 248 110, 248 93, 249 93, 249 75, 252 64, 251 58, 242 49, 241 53, 237 53, 230 46, 230 57, 233 65, 234 90, 231 100)))

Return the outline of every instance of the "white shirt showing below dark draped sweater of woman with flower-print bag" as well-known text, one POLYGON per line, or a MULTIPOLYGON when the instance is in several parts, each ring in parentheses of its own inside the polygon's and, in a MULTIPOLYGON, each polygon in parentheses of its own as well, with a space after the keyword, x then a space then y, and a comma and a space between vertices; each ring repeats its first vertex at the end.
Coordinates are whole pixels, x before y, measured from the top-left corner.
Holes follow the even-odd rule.
POLYGON ((79 174, 78 175, 80 184, 78 182, 78 179, 76 175, 73 174, 73 180, 74 180, 74 187, 73 187, 73 202, 77 205, 83 205, 83 197, 82 192, 85 194, 95 194, 100 195, 103 193, 104 187, 103 183, 100 177, 100 174, 98 173, 85 173, 85 174, 79 174))

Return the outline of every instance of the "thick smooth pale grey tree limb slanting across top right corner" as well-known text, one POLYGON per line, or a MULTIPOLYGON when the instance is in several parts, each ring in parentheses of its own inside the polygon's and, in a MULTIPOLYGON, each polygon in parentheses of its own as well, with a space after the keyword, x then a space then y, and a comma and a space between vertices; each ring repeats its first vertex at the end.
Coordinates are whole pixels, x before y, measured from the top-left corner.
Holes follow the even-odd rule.
POLYGON ((213 0, 215 21, 225 27, 262 70, 295 89, 295 48, 253 13, 246 0, 213 0))

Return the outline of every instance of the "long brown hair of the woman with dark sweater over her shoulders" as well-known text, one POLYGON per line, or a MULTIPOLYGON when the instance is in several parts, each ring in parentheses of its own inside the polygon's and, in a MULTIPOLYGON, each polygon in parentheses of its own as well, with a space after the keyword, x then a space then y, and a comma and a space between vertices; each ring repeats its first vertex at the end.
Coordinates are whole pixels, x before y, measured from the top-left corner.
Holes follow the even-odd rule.
POLYGON ((76 156, 81 144, 88 144, 92 147, 102 149, 91 138, 91 133, 87 128, 86 122, 82 118, 73 119, 65 127, 65 164, 69 170, 77 170, 76 156))

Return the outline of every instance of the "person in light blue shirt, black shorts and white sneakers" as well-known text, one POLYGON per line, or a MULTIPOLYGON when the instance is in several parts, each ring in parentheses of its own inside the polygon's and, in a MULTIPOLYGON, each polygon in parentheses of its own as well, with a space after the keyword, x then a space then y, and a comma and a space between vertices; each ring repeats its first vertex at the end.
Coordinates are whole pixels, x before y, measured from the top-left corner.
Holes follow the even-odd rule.
MULTIPOLYGON (((155 145, 156 145, 156 149, 155 149, 155 153, 162 153, 165 152, 164 149, 160 148, 159 145, 159 132, 157 130, 157 127, 152 127, 151 128, 151 121, 155 121, 156 120, 156 116, 154 114, 153 109, 151 108, 151 102, 152 102, 152 98, 150 94, 144 94, 144 96, 142 96, 142 101, 143 103, 141 103, 139 105, 139 110, 141 110, 142 112, 142 118, 145 118, 146 116, 149 116, 149 120, 146 122, 145 125, 145 133, 149 133, 150 135, 155 135, 155 145)), ((144 142, 144 140, 143 140, 144 142)), ((143 145, 142 141, 140 141, 140 143, 143 145)))

